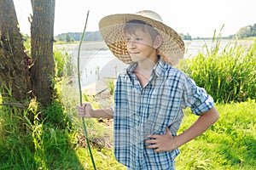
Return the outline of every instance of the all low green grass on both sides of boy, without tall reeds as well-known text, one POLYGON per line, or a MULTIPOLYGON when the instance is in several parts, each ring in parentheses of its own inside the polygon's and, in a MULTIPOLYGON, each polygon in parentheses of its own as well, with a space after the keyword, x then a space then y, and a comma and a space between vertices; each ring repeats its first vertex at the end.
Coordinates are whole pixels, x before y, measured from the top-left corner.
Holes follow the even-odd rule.
MULTIPOLYGON (((76 94, 65 89, 69 94, 76 94)), ((60 99, 61 96, 67 99, 67 94, 62 93, 60 99)), ((18 111, 9 115, 1 108, 0 169, 92 169, 88 148, 83 142, 82 123, 76 116, 77 97, 69 97, 68 101, 56 102, 45 109, 49 116, 44 118, 40 117, 36 102, 32 102, 22 116, 18 111), (26 119, 29 114, 35 114, 32 122, 26 119)), ((94 100, 91 96, 89 99, 94 100)), ((94 102, 94 105, 97 104, 94 102)), ((216 107, 220 120, 180 148, 177 169, 256 168, 255 100, 217 104, 216 107)), ((196 118, 186 110, 179 133, 196 118)), ((125 169, 115 161, 113 147, 108 147, 108 142, 113 144, 113 128, 105 127, 95 119, 85 121, 97 169, 125 169)))

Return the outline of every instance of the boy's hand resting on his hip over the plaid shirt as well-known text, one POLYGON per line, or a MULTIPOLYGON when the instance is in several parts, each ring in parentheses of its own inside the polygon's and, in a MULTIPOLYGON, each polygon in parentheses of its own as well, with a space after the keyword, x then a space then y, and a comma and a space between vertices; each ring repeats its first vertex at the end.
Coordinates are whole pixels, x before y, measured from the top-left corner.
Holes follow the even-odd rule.
POLYGON ((147 148, 154 149, 154 152, 158 151, 172 151, 176 149, 172 133, 170 133, 169 128, 166 128, 165 134, 151 134, 148 135, 145 140, 145 144, 147 145, 147 148))

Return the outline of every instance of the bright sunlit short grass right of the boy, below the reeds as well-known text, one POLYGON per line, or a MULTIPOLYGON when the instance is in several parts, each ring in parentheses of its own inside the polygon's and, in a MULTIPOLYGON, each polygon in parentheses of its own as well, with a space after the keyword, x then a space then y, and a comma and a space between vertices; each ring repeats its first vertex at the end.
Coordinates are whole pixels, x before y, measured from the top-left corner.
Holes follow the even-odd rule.
MULTIPOLYGON (((256 112, 255 100, 217 105, 220 119, 207 132, 183 145, 177 156, 177 169, 255 169, 256 112)), ((179 133, 196 120, 187 114, 179 133)))

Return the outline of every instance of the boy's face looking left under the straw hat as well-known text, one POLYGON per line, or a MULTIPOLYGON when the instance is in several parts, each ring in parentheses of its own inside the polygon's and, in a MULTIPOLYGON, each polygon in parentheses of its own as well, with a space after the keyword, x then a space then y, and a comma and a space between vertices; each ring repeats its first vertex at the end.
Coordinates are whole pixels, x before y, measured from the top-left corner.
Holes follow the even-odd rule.
POLYGON ((156 48, 149 32, 137 29, 132 34, 126 35, 127 50, 133 62, 139 62, 144 59, 155 60, 156 48))

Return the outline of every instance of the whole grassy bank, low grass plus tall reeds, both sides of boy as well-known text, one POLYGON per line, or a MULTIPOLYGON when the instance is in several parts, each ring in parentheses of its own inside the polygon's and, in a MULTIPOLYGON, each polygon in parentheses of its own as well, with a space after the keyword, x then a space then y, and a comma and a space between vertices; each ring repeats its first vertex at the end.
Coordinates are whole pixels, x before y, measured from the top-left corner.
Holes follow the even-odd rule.
MULTIPOLYGON (((220 120, 180 148, 177 170, 256 169, 255 56, 256 42, 247 51, 241 47, 219 51, 217 40, 207 54, 185 59, 179 65, 218 101, 220 120)), ((44 111, 38 111, 35 100, 25 111, 0 105, 0 170, 93 169, 76 113, 77 85, 67 79, 75 74, 70 60, 67 51, 55 51, 57 97, 44 111), (47 116, 42 117, 42 113, 47 116)), ((99 96, 83 97, 100 107, 99 96)), ((189 110, 185 113, 178 133, 197 118, 189 110)), ((113 156, 113 122, 85 122, 97 169, 125 169, 113 156)))

